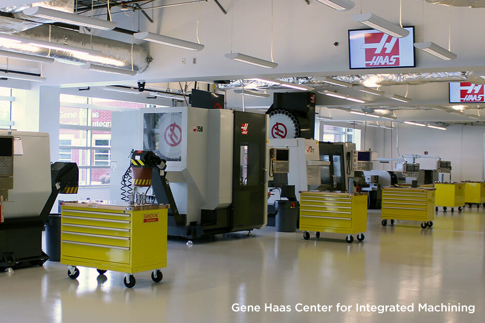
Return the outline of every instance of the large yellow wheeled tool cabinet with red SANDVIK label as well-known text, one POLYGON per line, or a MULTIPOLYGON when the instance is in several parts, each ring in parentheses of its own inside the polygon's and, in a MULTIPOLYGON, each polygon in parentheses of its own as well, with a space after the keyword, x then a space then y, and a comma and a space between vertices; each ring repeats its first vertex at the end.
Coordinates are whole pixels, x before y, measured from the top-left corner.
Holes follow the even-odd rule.
POLYGON ((125 272, 126 287, 135 285, 134 273, 152 271, 162 280, 167 265, 168 205, 114 206, 61 202, 61 263, 76 279, 76 266, 125 272))

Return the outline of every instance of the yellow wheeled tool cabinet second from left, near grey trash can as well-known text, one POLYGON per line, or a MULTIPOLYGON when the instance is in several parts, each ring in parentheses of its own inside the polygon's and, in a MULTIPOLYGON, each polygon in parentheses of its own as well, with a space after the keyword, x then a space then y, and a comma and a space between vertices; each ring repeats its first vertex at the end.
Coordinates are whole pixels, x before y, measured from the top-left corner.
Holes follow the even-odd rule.
POLYGON ((308 240, 314 231, 346 233, 346 241, 363 241, 367 231, 367 193, 300 192, 300 230, 308 240))

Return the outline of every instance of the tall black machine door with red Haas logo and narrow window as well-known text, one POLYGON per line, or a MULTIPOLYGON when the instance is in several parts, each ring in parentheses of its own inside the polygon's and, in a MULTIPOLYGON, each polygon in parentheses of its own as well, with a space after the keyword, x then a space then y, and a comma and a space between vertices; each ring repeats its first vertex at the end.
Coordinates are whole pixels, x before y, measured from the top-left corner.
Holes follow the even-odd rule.
POLYGON ((231 231, 265 222, 266 115, 234 111, 233 213, 231 231))

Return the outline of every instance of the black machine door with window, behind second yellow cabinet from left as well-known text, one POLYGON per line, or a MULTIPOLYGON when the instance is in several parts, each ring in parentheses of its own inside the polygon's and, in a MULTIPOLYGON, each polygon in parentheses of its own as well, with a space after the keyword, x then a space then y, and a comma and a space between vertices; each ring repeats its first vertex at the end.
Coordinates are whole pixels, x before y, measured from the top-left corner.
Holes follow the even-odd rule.
MULTIPOLYGON (((320 142, 319 151, 320 160, 330 162, 330 167, 321 172, 322 185, 329 187, 332 191, 345 191, 345 172, 347 169, 345 169, 344 146, 320 142)), ((350 155, 348 158, 350 159, 350 155)))

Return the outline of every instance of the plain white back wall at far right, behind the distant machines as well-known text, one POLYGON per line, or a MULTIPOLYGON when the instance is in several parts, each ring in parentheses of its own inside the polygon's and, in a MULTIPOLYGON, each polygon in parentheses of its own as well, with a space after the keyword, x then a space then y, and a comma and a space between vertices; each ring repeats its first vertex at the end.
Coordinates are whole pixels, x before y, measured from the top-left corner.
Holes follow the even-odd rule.
MULTIPOLYGON (((440 156, 451 161, 451 180, 481 181, 483 179, 484 126, 450 125, 446 131, 395 123, 392 131, 377 129, 374 146, 379 157, 397 158, 397 142, 400 155, 416 154, 440 156), (399 141, 397 141, 399 139, 399 141), (392 140, 392 146, 391 146, 392 140), (392 151, 392 156, 391 156, 392 151)), ((429 159, 418 159, 418 163, 429 164, 429 159)), ((391 170, 391 163, 374 163, 374 169, 391 170)))

